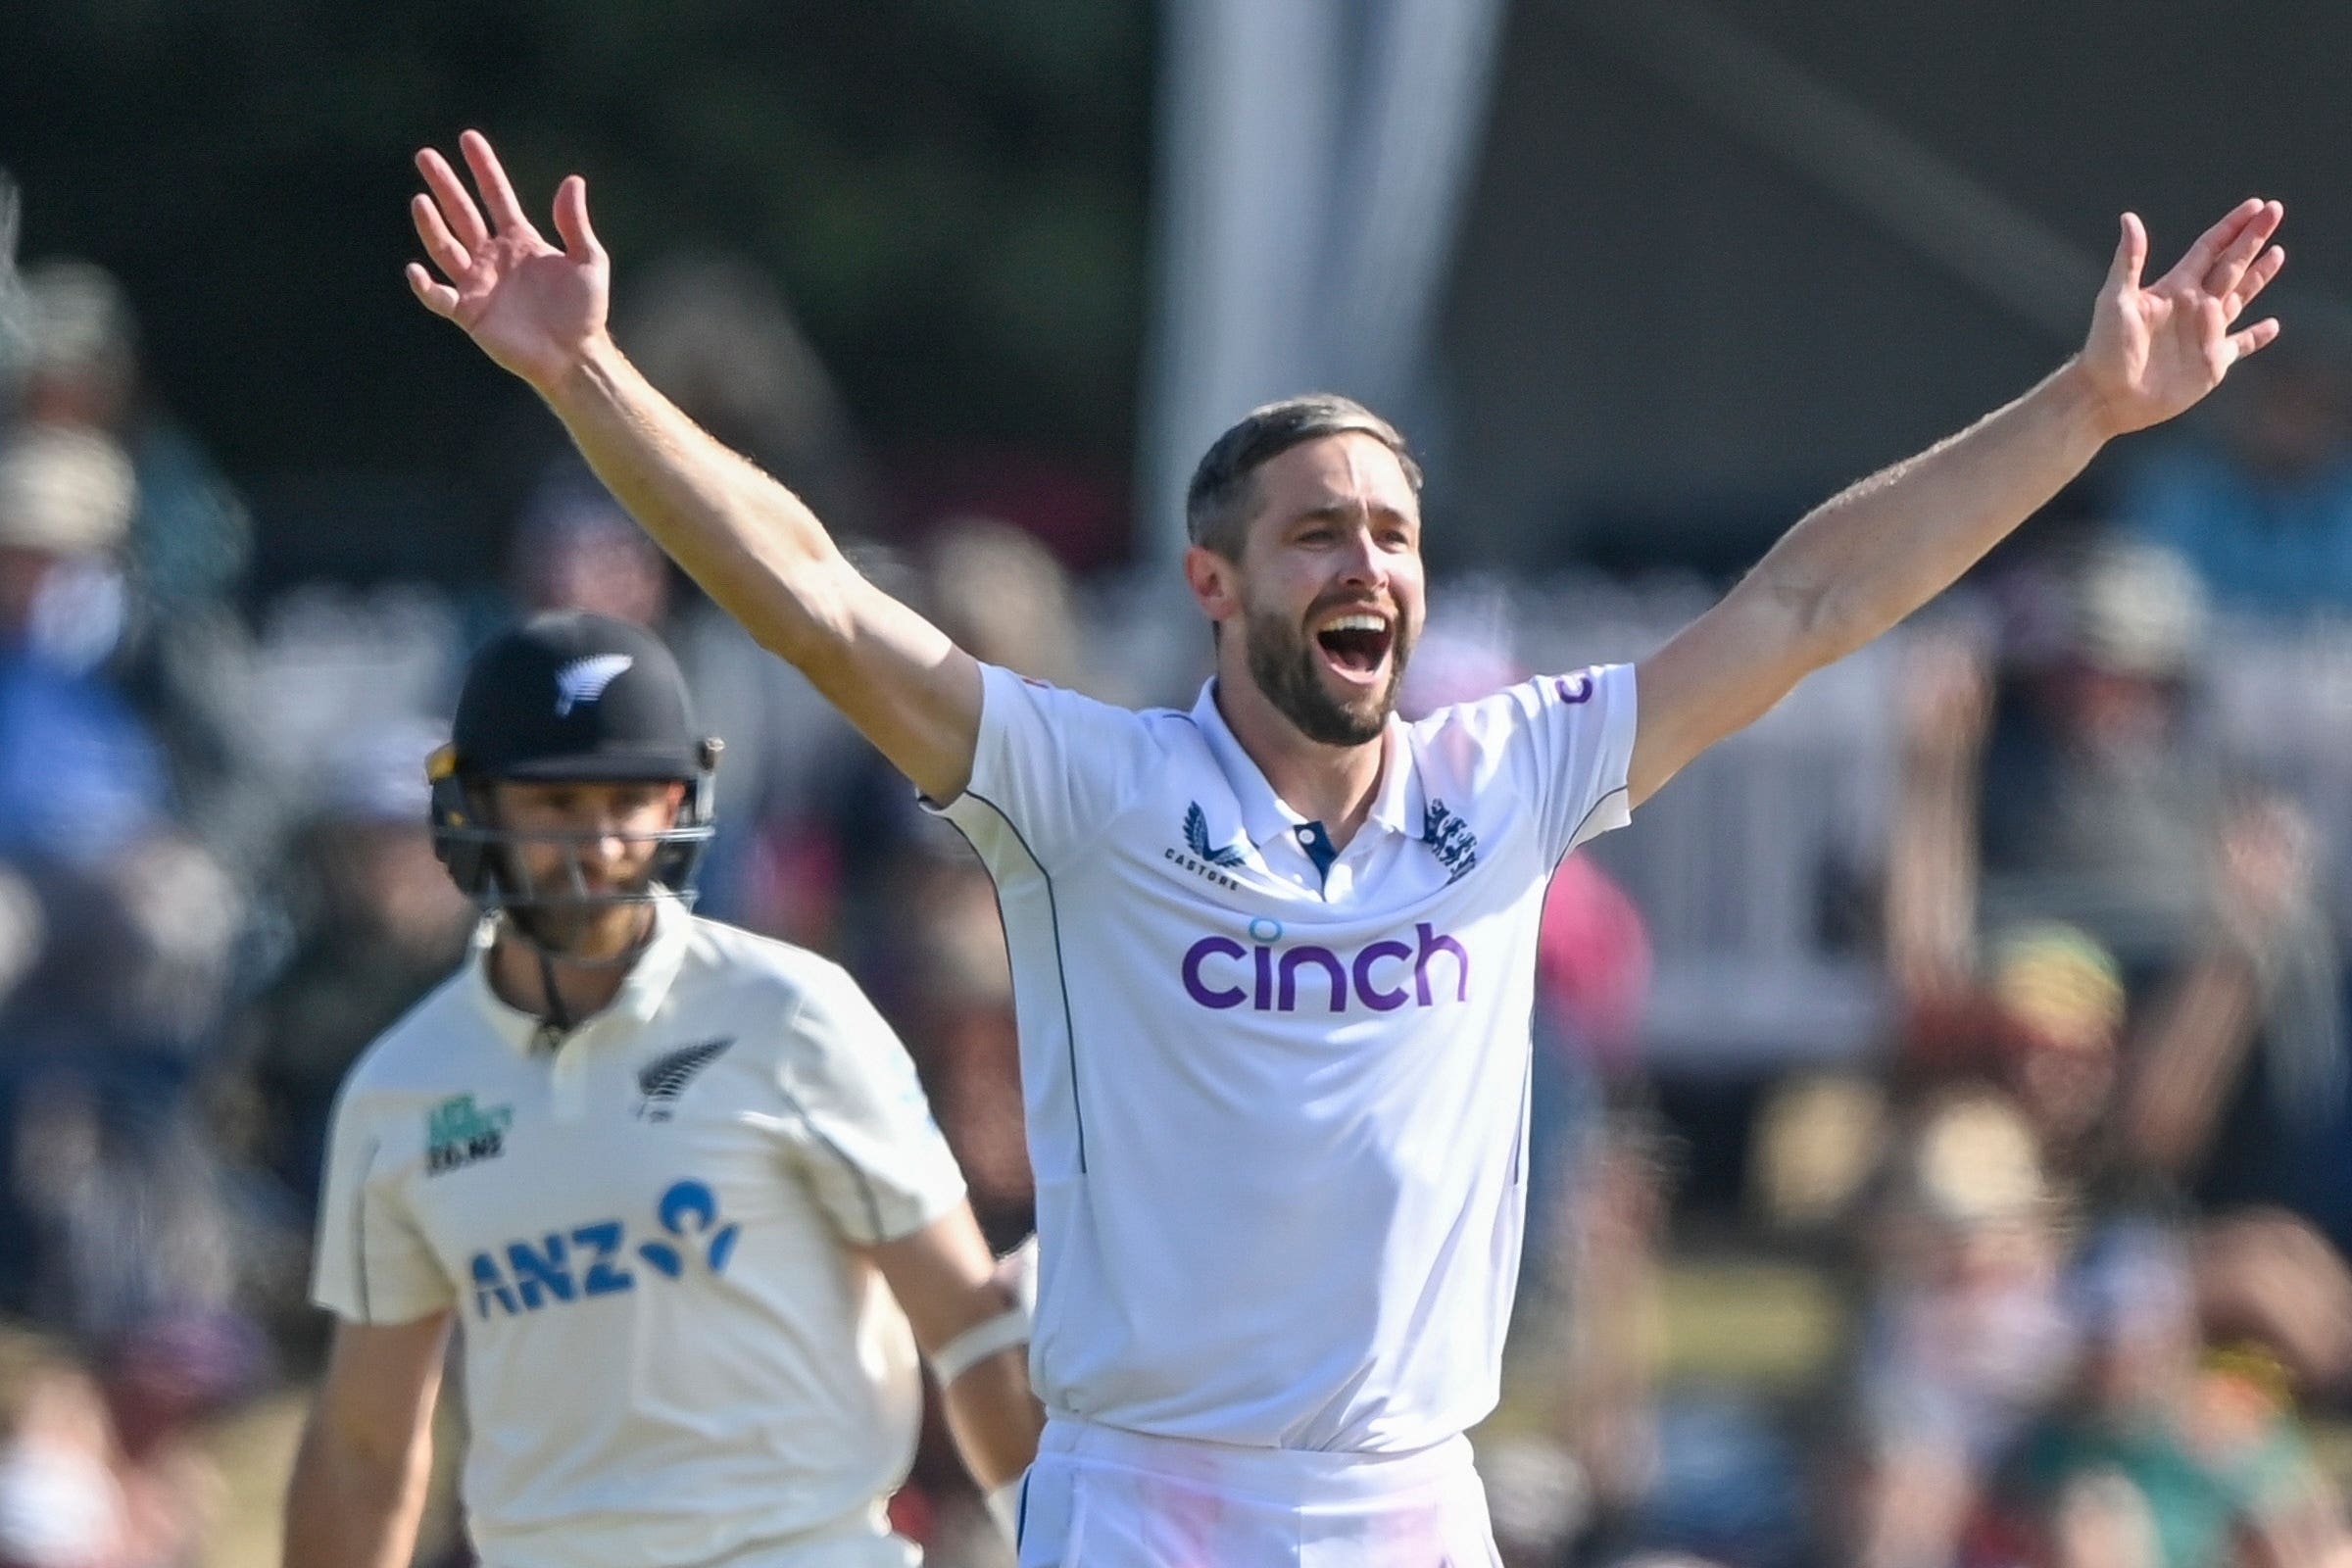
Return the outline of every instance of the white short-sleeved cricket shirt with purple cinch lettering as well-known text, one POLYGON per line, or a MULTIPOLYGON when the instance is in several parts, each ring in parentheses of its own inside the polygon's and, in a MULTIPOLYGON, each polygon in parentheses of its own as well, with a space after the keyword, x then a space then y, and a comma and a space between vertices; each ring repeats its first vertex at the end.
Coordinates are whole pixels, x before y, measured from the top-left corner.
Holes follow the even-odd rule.
POLYGON ((1494 1408, 1536 924, 1628 820, 1632 736, 1628 665, 1392 719, 1334 858, 1214 682, 1131 712, 985 672, 943 813, 1011 947, 1051 1413, 1404 1453, 1494 1408))

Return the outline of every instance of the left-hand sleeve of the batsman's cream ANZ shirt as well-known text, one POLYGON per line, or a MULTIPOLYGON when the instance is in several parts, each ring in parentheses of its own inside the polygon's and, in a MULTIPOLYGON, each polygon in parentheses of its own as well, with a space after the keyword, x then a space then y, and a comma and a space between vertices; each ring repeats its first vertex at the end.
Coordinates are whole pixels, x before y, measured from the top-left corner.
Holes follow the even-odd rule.
POLYGON ((310 1300, 353 1324, 412 1324, 456 1300, 390 1168, 367 1093, 346 1086, 327 1140, 310 1300))

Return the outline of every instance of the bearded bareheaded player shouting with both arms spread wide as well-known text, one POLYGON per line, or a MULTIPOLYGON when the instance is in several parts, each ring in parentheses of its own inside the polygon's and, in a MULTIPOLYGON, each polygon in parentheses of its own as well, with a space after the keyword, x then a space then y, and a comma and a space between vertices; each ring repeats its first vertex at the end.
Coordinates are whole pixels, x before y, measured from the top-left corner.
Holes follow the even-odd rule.
POLYGON ((1421 475, 1343 397, 1249 414, 1188 494, 1216 637, 1190 712, 981 668, 604 331, 586 183, 548 244, 489 143, 433 150, 426 308, 555 409, 635 512, 978 846, 1021 1016, 1047 1406, 1028 1568, 1494 1563, 1463 1429, 1519 1260, 1536 919, 1552 867, 1915 611, 2114 435, 2277 336, 2246 202, 2164 277, 2124 216, 2037 388, 1804 517, 1639 665, 1392 715, 1423 625, 1421 475))

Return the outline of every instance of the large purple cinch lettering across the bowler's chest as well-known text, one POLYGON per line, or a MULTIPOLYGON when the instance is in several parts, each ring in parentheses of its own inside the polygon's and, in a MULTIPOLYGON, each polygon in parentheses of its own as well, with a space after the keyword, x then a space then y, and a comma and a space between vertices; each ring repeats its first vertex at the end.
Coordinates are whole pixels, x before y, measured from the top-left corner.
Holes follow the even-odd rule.
POLYGON ((1185 947, 1185 994, 1218 1011, 1249 1006, 1261 1013, 1296 1013, 1301 992, 1329 1001, 1334 1013, 1345 1013, 1350 999, 1374 1013, 1392 1013, 1406 1001, 1470 999, 1470 952, 1428 922, 1414 926, 1411 943, 1367 943, 1355 954, 1315 943, 1277 947, 1277 919, 1249 922, 1249 947, 1230 936, 1204 936, 1185 947))

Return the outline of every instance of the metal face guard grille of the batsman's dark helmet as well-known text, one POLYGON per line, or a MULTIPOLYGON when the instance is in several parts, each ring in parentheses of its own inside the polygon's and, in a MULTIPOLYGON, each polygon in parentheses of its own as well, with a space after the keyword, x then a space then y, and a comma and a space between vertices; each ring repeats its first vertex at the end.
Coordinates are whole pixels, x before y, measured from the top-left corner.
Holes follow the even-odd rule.
MULTIPOLYGON (((694 905, 694 879, 701 875, 703 853, 715 832, 717 741, 699 748, 699 769, 687 785, 687 797, 677 806, 677 823, 659 832, 623 835, 633 844, 652 842, 654 856, 644 877, 635 886, 590 891, 581 870, 581 851, 612 835, 607 832, 520 832, 501 827, 489 802, 494 776, 468 776, 461 771, 452 748, 442 748, 428 764, 433 783, 433 853, 449 870, 459 891, 485 912, 499 910, 597 910, 628 903, 654 903, 677 898, 694 905), (541 882, 532 875, 529 860, 517 853, 529 844, 560 844, 562 877, 541 882)), ((515 780, 532 783, 532 780, 515 780)), ((619 783, 619 780, 616 780, 619 783)), ((637 780, 630 780, 637 783, 637 780)))

